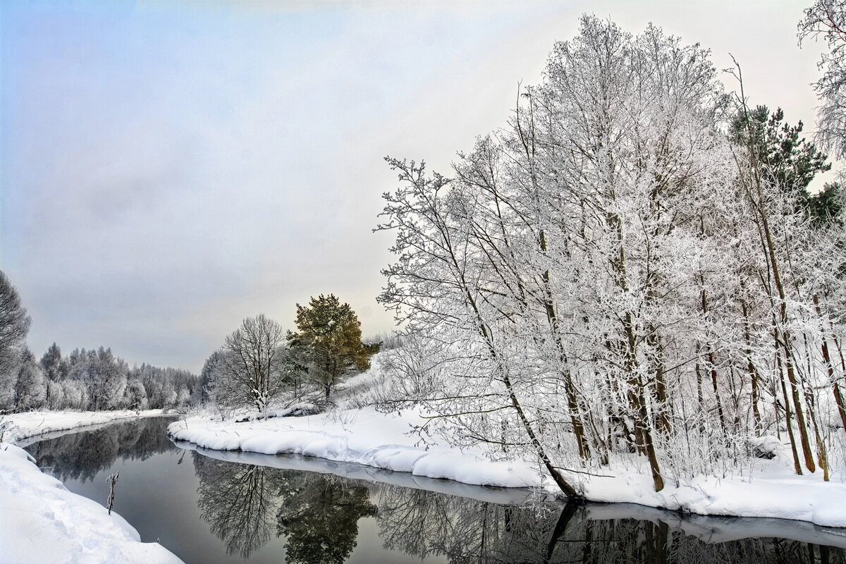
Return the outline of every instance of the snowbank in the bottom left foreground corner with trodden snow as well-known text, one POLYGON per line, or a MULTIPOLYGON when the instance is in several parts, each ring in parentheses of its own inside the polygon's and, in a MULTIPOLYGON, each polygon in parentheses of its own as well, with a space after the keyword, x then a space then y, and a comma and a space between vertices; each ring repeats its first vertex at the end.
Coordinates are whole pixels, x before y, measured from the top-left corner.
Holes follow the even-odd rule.
POLYGON ((96 501, 42 474, 18 446, 0 443, 0 562, 181 562, 96 501))

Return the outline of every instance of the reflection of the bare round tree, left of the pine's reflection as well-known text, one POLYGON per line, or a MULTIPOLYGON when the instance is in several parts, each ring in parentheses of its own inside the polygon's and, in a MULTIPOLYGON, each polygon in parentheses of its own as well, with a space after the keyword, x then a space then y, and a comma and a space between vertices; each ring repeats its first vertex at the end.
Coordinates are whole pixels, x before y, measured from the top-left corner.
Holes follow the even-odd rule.
POLYGON ((229 554, 249 558, 264 545, 276 524, 278 471, 263 466, 233 464, 194 452, 194 468, 200 478, 197 507, 222 539, 229 554))

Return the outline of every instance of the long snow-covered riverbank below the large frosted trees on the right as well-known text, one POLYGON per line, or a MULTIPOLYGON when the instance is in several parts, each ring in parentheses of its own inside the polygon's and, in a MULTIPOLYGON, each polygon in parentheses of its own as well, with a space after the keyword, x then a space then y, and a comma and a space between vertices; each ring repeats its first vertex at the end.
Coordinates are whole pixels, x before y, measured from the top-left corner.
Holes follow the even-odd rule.
MULTIPOLYGON (((550 480, 530 461, 492 461, 481 451, 462 452, 442 443, 420 444, 410 431, 425 423, 426 419, 413 410, 387 414, 374 408, 351 408, 242 423, 187 419, 171 424, 168 432, 180 441, 215 450, 295 453, 465 484, 554 490, 550 480)), ((590 501, 846 527, 843 477, 824 482, 819 473, 792 474, 788 461, 783 459, 758 462, 751 479, 703 476, 681 484, 667 480, 661 492, 652 490, 651 476, 645 468, 643 472, 634 467, 605 470, 603 476, 570 474, 569 478, 580 485, 590 501)))

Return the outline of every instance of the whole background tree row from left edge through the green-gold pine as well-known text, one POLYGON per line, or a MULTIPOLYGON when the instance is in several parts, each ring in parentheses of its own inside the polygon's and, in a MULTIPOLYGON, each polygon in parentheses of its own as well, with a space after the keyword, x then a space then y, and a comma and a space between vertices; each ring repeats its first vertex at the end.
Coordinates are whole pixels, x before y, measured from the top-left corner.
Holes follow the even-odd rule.
POLYGON ((343 376, 370 368, 379 343, 361 341, 361 324, 333 294, 297 304, 297 331, 266 315, 247 318, 206 359, 201 375, 129 364, 110 348, 53 343, 36 359, 25 341, 30 318, 17 289, 0 271, 0 410, 147 409, 211 404, 267 413, 283 394, 294 400, 319 392, 327 400, 343 376))

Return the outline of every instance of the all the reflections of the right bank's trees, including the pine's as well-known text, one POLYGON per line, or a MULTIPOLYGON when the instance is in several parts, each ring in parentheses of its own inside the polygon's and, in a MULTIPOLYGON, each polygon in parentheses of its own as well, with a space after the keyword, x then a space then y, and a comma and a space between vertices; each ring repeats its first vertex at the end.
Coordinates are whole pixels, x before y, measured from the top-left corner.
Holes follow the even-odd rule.
POLYGON ((709 544, 659 518, 597 520, 584 507, 506 506, 192 455, 203 518, 244 558, 275 535, 286 538, 288 564, 339 564, 360 518, 376 517, 384 548, 453 564, 846 564, 843 549, 787 539, 709 544))

